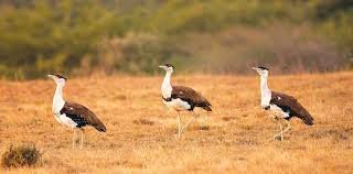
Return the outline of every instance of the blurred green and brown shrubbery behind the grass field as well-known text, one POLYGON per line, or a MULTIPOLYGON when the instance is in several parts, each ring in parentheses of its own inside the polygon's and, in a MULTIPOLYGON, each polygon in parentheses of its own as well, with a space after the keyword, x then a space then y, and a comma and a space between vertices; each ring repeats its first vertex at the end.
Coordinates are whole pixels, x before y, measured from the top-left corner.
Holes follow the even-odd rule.
POLYGON ((353 68, 352 0, 0 0, 0 77, 353 68))

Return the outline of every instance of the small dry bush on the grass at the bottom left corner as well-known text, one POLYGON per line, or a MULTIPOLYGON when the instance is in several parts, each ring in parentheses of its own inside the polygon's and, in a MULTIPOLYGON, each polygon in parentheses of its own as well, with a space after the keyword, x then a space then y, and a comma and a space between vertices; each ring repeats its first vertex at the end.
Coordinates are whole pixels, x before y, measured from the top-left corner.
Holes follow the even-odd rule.
POLYGON ((1 165, 3 167, 34 166, 41 157, 42 154, 34 145, 10 145, 2 154, 1 165))

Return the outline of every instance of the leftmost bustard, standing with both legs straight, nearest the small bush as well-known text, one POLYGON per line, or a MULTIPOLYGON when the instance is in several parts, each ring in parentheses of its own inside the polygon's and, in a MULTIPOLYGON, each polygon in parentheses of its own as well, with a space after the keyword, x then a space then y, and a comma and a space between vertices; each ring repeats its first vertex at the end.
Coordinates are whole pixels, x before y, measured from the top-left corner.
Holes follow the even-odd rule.
POLYGON ((81 131, 81 149, 83 149, 84 128, 86 126, 92 126, 99 132, 106 132, 106 127, 93 111, 79 104, 64 100, 63 88, 67 80, 66 77, 58 74, 47 75, 47 77, 52 78, 56 84, 52 106, 54 118, 61 124, 74 130, 73 149, 75 149, 75 141, 77 140, 77 130, 81 131))

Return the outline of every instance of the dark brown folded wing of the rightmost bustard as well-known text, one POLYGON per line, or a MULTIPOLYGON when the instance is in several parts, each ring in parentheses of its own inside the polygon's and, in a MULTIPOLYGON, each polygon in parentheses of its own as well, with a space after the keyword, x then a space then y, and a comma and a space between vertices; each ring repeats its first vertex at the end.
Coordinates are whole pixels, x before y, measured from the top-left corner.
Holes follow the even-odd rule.
POLYGON ((272 91, 271 100, 269 101, 269 104, 278 106, 285 112, 288 112, 290 117, 300 118, 308 126, 313 124, 313 118, 311 117, 311 115, 292 96, 272 91))

